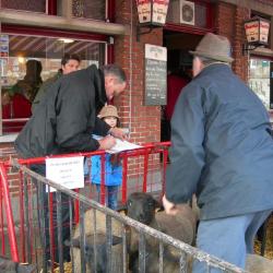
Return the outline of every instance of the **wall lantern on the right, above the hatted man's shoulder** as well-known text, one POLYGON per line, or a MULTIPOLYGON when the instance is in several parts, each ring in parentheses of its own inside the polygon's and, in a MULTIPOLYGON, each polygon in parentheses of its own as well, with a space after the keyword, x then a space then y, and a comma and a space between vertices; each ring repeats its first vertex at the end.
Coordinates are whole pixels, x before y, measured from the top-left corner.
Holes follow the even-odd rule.
POLYGON ((265 19, 254 16, 245 22, 247 43, 242 45, 242 55, 248 55, 260 46, 269 44, 270 22, 265 19))

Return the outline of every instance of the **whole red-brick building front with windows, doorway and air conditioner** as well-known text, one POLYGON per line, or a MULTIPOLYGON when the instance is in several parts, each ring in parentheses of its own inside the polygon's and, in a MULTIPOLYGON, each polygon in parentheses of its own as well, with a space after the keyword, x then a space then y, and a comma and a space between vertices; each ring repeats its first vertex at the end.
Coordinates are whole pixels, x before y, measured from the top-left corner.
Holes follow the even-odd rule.
MULTIPOLYGON (((253 74, 257 57, 262 61, 261 66, 266 62, 264 71, 268 71, 268 62, 272 60, 272 27, 265 57, 259 54, 260 49, 242 55, 242 45, 246 43, 244 22, 251 14, 264 15, 272 21, 273 7, 271 1, 265 0, 259 3, 252 0, 248 4, 245 2, 240 5, 238 1, 232 0, 171 0, 165 26, 140 35, 134 0, 1 1, 2 96, 24 76, 28 59, 41 62, 43 81, 56 73, 64 52, 79 54, 81 68, 115 61, 126 70, 129 83, 121 98, 115 102, 122 126, 129 129, 130 138, 135 143, 159 141, 162 105, 145 105, 144 102, 145 45, 166 47, 167 67, 188 70, 191 68, 188 50, 193 49, 206 32, 225 35, 234 49, 234 71, 244 81, 249 81, 251 86, 256 84, 259 88, 259 83, 253 83, 249 76, 253 74)), ((14 132, 24 122, 25 119, 15 120, 10 109, 9 115, 0 120, 1 143, 12 146, 16 136, 14 132)))

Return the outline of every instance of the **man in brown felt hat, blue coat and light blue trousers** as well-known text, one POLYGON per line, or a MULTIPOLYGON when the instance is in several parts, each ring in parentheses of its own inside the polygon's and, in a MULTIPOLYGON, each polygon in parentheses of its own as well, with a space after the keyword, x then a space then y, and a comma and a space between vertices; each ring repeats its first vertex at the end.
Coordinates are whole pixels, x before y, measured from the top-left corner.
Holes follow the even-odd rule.
MULTIPOLYGON (((245 268, 258 228, 273 209, 273 141, 266 109, 230 69, 226 37, 206 34, 193 55, 193 80, 171 118, 164 206, 195 193, 197 247, 245 268)), ((195 262, 193 272, 206 272, 195 262)), ((211 272, 218 272, 212 270, 211 272)))

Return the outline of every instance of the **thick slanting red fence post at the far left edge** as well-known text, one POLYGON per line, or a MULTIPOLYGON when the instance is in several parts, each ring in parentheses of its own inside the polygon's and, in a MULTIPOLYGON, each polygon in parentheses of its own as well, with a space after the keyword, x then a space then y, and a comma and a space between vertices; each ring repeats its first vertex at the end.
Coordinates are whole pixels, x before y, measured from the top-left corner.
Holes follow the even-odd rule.
POLYGON ((1 183, 3 189, 3 200, 4 200, 4 206, 5 206, 5 214, 7 214, 7 223, 8 223, 8 234, 9 234, 9 240, 11 246, 11 257, 14 262, 19 262, 19 253, 17 253, 17 242, 16 242, 16 236, 14 230, 14 221, 13 221, 13 214, 12 214, 12 207, 11 207, 11 199, 10 199, 10 191, 8 186, 8 176, 7 176, 7 169, 3 165, 3 163, 0 163, 0 175, 1 175, 1 183))

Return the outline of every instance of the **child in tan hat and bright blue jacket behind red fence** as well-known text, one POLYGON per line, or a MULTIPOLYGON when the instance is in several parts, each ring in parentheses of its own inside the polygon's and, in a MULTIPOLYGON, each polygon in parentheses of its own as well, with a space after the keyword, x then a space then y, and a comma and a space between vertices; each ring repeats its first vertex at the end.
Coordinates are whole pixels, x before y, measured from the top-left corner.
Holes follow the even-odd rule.
MULTIPOLYGON (((104 120, 111 128, 117 128, 120 124, 117 107, 114 105, 104 106, 98 117, 104 120)), ((93 138, 96 138, 93 135, 93 138)), ((94 155, 85 161, 85 174, 90 175, 90 181, 96 185, 98 193, 98 201, 100 197, 102 186, 102 156, 94 155), (90 166, 91 162, 91 166, 90 166)), ((122 181, 122 166, 119 154, 106 154, 105 156, 105 189, 106 189, 106 204, 111 210, 117 210, 118 206, 118 191, 122 181)))

